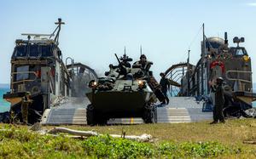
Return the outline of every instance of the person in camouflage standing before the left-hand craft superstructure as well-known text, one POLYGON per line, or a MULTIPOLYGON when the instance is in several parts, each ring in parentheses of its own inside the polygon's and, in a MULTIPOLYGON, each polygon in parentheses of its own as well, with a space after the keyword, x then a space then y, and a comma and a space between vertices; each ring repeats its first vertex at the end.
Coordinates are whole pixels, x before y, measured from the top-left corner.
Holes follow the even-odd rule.
POLYGON ((27 124, 28 106, 32 103, 32 99, 30 99, 30 96, 30 92, 26 92, 21 102, 21 115, 24 124, 27 124))

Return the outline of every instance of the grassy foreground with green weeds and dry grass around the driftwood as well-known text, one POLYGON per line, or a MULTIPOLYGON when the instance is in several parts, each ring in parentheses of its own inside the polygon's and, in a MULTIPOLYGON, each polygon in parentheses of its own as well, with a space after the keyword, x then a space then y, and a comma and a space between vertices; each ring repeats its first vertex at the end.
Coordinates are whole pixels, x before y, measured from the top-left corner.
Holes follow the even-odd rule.
POLYGON ((255 123, 255 119, 247 119, 232 120, 227 124, 214 126, 207 122, 198 122, 68 127, 82 130, 94 129, 99 133, 121 133, 122 131, 126 134, 150 133, 159 139, 154 143, 113 139, 108 134, 88 139, 70 139, 64 134, 56 137, 41 135, 28 131, 24 126, 0 124, 0 129, 7 130, 0 131, 0 158, 255 158, 255 145, 242 143, 246 139, 255 139, 255 123), (203 135, 206 132, 207 134, 203 135), (228 132, 232 140, 226 134, 228 132))

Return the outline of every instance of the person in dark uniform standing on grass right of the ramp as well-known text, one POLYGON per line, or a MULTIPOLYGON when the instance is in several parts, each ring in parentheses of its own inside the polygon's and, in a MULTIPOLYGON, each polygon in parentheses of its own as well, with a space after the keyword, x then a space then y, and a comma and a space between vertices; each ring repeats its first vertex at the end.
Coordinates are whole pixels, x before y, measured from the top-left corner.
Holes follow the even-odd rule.
POLYGON ((224 121, 224 114, 223 114, 223 107, 224 107, 224 89, 222 87, 223 84, 223 78, 218 77, 216 84, 217 86, 213 86, 212 89, 215 92, 215 105, 213 108, 213 122, 218 123, 219 122, 225 122, 224 121))

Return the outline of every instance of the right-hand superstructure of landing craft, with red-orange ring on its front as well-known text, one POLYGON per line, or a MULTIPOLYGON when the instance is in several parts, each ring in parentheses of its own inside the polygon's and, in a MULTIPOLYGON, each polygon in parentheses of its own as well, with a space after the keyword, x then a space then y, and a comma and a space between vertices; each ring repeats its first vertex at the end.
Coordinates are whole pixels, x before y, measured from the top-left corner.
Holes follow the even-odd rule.
MULTIPOLYGON (((256 116, 252 102, 256 99, 253 94, 252 65, 247 50, 241 47, 244 37, 234 37, 236 47, 230 47, 228 35, 220 37, 206 37, 203 33, 201 42, 201 59, 196 65, 180 63, 172 65, 166 75, 179 96, 195 96, 205 99, 207 104, 213 105, 214 98, 209 83, 218 77, 224 78, 224 115, 225 116, 256 116), (177 70, 182 68, 182 70, 177 70), (177 79, 177 72, 182 76, 177 79), (175 75, 176 74, 176 75, 175 75)), ((174 93, 175 94, 175 93, 174 93)))

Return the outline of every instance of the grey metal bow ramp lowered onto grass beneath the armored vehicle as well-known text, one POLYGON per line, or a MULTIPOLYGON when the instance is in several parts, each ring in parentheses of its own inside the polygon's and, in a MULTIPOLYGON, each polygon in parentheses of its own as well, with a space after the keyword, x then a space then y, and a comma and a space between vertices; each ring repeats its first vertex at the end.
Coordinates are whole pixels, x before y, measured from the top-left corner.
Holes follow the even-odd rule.
MULTIPOLYGON (((86 125, 87 99, 70 99, 58 107, 44 111, 45 125, 86 125)), ((160 105, 159 105, 160 106, 160 105)), ((158 123, 201 122, 212 120, 212 112, 202 112, 202 103, 192 97, 171 97, 169 105, 158 107, 158 123)), ((141 124, 142 118, 117 118, 108 124, 141 124)))

